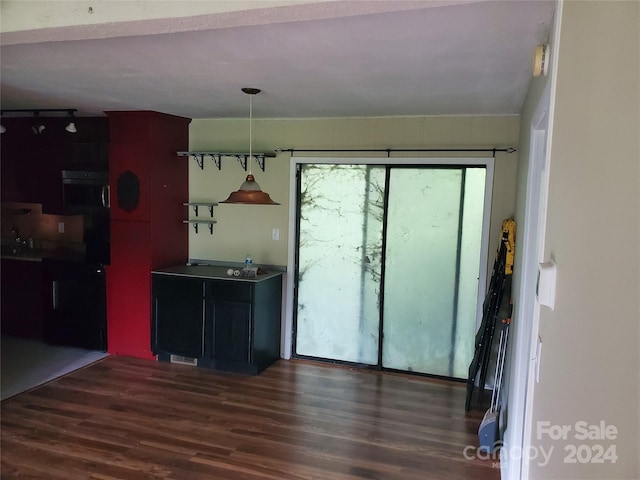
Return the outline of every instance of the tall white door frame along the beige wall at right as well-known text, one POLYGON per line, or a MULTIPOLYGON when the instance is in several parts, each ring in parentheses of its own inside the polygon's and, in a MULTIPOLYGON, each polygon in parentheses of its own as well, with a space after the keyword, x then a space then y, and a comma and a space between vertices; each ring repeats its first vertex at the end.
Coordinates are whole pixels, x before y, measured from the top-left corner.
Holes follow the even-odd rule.
MULTIPOLYGON (((540 304, 536 298, 538 263, 544 260, 544 242, 547 223, 549 191, 549 169, 553 135, 555 92, 560 50, 560 27, 563 0, 556 5, 550 57, 550 78, 540 96, 530 125, 529 170, 527 174, 524 231, 522 238, 522 261, 518 304, 514 318, 518 322, 515 331, 513 352, 508 360, 508 397, 506 398, 508 420, 504 431, 502 452, 506 457, 501 462, 501 477, 507 480, 527 480, 529 459, 522 455, 531 448, 533 394, 536 369, 540 362, 538 331, 540 304), (510 456, 510 454, 512 454, 510 456)), ((502 418, 501 418, 502 421, 502 418)))

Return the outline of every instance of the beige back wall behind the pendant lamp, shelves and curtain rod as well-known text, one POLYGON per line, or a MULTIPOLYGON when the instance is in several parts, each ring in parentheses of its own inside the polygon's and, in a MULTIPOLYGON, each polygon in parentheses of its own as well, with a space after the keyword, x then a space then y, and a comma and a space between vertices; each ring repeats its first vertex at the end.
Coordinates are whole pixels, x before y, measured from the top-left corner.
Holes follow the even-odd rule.
MULTIPOLYGON (((257 98, 254 102, 255 107, 259 100, 257 98)), ((517 148, 518 130, 517 116, 254 119, 253 150, 517 148)), ((192 151, 248 151, 248 139, 247 119, 193 120, 190 126, 192 151)), ((345 155, 338 153, 336 156, 345 155)), ((223 159, 221 171, 215 168, 210 159, 205 160, 204 170, 200 170, 195 160, 188 161, 191 201, 224 200, 232 190, 238 189, 246 175, 239 163, 231 158, 223 159)), ((289 233, 289 164, 290 155, 282 153, 276 158, 267 159, 265 172, 255 164, 253 168, 262 189, 280 202, 281 206, 220 205, 214 213, 218 223, 213 235, 209 235, 206 230, 200 230, 198 234, 193 229, 190 230, 189 256, 196 259, 243 261, 245 255, 250 253, 258 264, 285 265, 289 233), (273 228, 280 229, 279 241, 271 239, 273 228)), ((516 171, 517 153, 498 152, 493 190, 491 233, 494 238, 490 244, 491 252, 495 251, 503 218, 514 213, 516 171)))

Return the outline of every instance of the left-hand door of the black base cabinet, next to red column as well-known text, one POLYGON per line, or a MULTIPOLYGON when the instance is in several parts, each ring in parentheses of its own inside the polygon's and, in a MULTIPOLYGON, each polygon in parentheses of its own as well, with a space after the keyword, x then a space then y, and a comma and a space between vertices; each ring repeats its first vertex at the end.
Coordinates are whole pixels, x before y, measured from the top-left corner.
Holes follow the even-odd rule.
POLYGON ((201 280, 153 276, 154 353, 205 354, 205 301, 201 280))

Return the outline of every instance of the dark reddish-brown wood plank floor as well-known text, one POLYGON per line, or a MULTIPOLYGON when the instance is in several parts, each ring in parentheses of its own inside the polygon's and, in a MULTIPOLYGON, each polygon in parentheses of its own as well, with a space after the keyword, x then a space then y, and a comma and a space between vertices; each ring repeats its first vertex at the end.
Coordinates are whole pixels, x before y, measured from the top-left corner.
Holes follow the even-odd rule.
POLYGON ((465 386, 279 361, 257 377, 109 357, 1 403, 1 477, 482 479, 465 386), (469 459, 468 459, 469 458, 469 459))

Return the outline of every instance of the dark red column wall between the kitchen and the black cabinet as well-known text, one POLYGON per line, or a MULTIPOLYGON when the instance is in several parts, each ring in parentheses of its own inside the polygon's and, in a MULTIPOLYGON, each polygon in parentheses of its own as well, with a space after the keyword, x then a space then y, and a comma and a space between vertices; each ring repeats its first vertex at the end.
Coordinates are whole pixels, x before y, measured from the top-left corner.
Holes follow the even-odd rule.
POLYGON ((106 112, 109 117, 111 265, 107 268, 109 353, 153 359, 151 270, 187 261, 190 119, 158 112, 106 112), (133 173, 135 208, 122 208, 118 179, 133 173))

